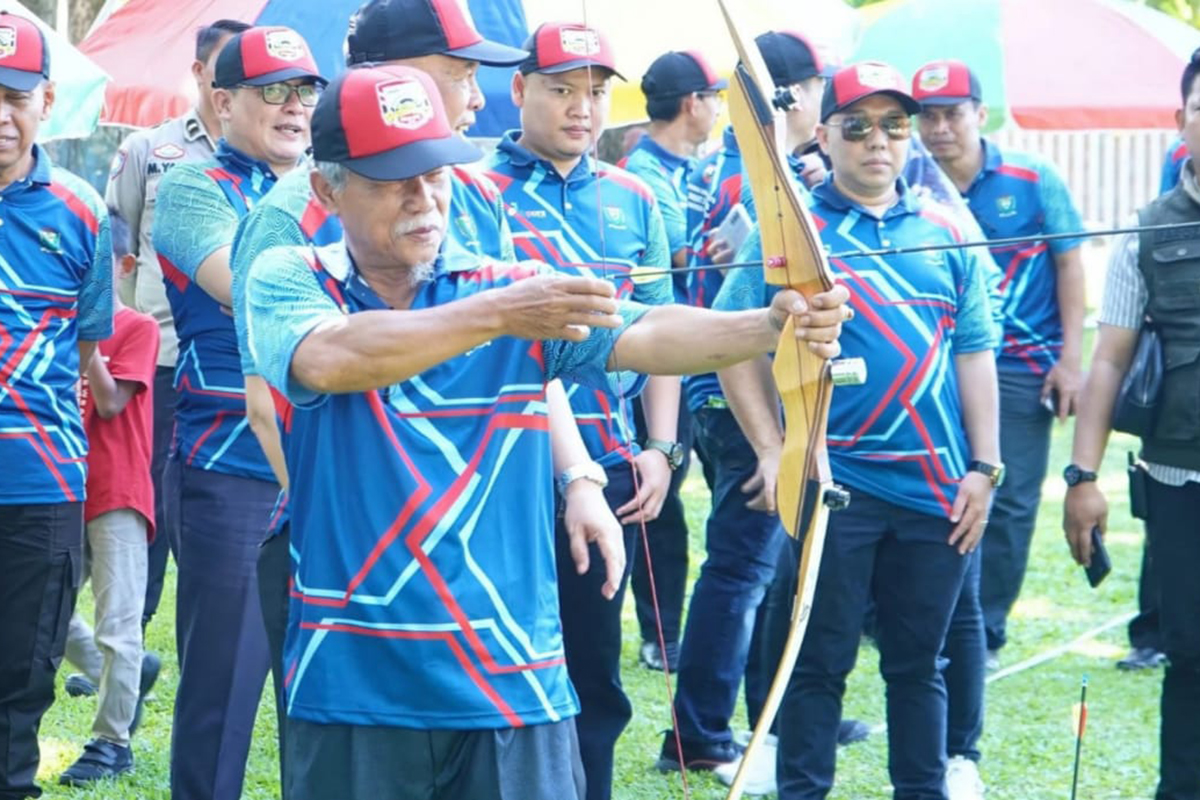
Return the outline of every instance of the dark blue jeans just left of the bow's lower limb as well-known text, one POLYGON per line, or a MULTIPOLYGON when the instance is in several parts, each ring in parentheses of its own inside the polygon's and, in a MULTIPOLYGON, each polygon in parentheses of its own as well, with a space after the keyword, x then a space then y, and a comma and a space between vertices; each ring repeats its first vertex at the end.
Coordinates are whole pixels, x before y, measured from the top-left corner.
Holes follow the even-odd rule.
POLYGON ((758 604, 775 575, 787 535, 778 517, 745 507, 742 491, 758 459, 726 409, 696 411, 696 443, 713 465, 713 510, 706 530, 708 558, 688 607, 679 650, 676 718, 684 744, 730 741, 730 718, 746 673, 758 604))

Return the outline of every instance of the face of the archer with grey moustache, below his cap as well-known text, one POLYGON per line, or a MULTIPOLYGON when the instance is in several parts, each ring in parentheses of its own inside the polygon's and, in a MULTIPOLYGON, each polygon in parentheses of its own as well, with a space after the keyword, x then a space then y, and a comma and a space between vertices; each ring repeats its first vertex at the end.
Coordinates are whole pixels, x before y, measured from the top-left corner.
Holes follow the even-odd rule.
POLYGON ((350 173, 334 193, 331 210, 341 217, 355 258, 404 269, 437 260, 446 231, 450 180, 449 167, 402 181, 350 173))

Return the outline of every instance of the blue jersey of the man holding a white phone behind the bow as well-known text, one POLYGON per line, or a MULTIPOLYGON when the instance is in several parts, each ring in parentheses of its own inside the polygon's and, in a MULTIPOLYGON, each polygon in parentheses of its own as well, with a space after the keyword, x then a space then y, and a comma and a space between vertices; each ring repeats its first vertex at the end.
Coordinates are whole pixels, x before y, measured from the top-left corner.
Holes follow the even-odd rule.
MULTIPOLYGON (((742 151, 733 127, 725 128, 721 149, 706 156, 688 179, 688 266, 712 264, 708 246, 713 231, 721 227, 730 211, 742 201, 742 151)), ((725 273, 720 270, 689 272, 688 302, 710 308, 725 273)), ((709 403, 721 404, 725 395, 716 373, 685 375, 683 391, 688 408, 695 411, 709 403)))

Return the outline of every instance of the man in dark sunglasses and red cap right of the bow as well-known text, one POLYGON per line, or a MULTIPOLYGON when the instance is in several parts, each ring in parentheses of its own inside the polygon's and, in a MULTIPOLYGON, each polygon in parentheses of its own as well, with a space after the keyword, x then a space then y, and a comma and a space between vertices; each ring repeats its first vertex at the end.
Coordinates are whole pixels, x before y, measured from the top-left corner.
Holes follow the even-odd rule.
MULTIPOLYGON (((827 85, 817 140, 833 172, 809 207, 830 251, 961 241, 946 213, 900 178, 918 110, 884 64, 846 67, 827 85)), ((744 252, 761 258, 757 243, 744 252)), ((970 249, 830 266, 858 315, 842 347, 866 361, 868 380, 836 390, 829 411, 833 477, 853 499, 829 518, 808 636, 780 709, 779 798, 817 800, 833 786, 841 697, 871 601, 894 796, 944 798, 938 656, 1002 475, 986 275, 970 249)), ((738 270, 714 308, 769 300, 761 271, 738 270)), ((752 362, 720 373, 722 385, 742 386, 730 404, 763 476, 778 474, 782 441, 769 375, 768 365, 752 362)))

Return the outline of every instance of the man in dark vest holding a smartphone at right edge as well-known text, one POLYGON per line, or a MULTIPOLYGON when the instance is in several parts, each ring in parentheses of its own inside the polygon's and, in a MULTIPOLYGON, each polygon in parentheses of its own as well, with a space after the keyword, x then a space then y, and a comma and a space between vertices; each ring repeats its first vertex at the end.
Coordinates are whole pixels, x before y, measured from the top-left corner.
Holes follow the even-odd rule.
MULTIPOLYGON (((1112 408, 1133 361, 1138 331, 1154 320, 1168 366, 1157 416, 1144 435, 1145 470, 1133 504, 1145 512, 1150 555, 1158 571, 1163 674, 1162 760, 1157 800, 1200 796, 1200 50, 1183 68, 1183 108, 1176 112, 1188 148, 1180 184, 1139 212, 1141 225, 1171 230, 1127 234, 1112 249, 1092 367, 1079 395, 1072 464, 1067 468, 1063 530, 1072 555, 1084 566, 1097 559, 1093 529, 1108 524, 1108 500, 1096 482, 1111 429, 1112 408)), ((1135 512, 1136 513, 1136 512, 1135 512)))

